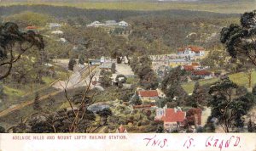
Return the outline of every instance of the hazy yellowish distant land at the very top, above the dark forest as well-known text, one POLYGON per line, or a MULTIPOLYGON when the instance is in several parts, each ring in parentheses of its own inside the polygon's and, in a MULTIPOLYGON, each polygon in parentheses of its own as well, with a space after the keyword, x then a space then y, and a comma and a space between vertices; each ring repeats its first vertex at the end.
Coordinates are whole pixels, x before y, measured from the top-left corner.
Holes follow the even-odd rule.
POLYGON ((0 6, 52 5, 108 10, 197 10, 241 14, 255 9, 253 0, 0 0, 0 6))

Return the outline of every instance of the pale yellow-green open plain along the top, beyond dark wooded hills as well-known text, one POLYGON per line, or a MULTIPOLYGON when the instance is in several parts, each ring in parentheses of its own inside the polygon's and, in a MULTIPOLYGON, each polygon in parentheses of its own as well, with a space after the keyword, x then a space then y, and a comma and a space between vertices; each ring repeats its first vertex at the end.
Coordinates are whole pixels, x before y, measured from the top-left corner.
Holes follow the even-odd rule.
POLYGON ((34 5, 45 4, 52 6, 67 6, 75 8, 88 9, 119 9, 119 10, 168 10, 168 9, 182 9, 182 10, 196 10, 208 11, 225 14, 240 14, 245 11, 252 11, 255 9, 256 2, 233 2, 233 3, 143 3, 143 2, 105 2, 105 3, 0 3, 0 6, 10 5, 34 5))

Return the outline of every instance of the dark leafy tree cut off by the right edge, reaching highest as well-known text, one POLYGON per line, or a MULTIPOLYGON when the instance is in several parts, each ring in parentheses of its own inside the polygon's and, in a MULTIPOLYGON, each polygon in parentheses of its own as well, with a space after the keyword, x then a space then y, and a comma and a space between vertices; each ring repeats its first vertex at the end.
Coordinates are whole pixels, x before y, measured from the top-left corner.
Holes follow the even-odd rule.
POLYGON ((247 58, 256 66, 256 10, 241 15, 240 25, 231 24, 221 31, 221 42, 232 58, 247 58))

